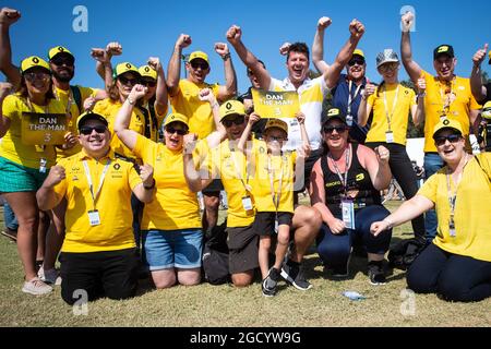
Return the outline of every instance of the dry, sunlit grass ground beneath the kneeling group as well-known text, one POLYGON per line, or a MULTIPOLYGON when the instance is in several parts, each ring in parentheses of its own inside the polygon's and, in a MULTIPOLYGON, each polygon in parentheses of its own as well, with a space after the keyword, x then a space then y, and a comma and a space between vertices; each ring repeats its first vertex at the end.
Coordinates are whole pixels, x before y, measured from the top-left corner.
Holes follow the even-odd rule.
MULTIPOLYGON (((394 209, 397 202, 391 202, 394 209)), ((408 238, 410 226, 394 231, 394 241, 408 238)), ((479 303, 450 303, 434 294, 417 294, 415 311, 403 315, 406 288, 404 272, 395 270, 390 282, 371 286, 366 261, 351 260, 351 277, 344 281, 326 279, 314 249, 306 257, 307 276, 313 288, 301 292, 280 284, 277 297, 264 298, 259 280, 247 288, 229 285, 173 287, 154 290, 142 282, 142 290, 127 301, 98 300, 88 304, 87 315, 74 315, 56 287, 51 294, 27 296, 21 291, 23 273, 15 243, 0 237, 0 326, 489 326, 491 299, 479 303), (343 291, 355 290, 367 297, 350 301, 343 291)))

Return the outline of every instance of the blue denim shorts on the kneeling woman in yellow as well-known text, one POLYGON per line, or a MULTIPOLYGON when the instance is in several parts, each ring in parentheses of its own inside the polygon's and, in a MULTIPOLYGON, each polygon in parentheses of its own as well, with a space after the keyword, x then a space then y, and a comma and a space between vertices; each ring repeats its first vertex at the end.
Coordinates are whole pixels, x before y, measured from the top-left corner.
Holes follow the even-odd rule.
POLYGON ((201 267, 201 229, 144 230, 143 245, 151 272, 201 267))

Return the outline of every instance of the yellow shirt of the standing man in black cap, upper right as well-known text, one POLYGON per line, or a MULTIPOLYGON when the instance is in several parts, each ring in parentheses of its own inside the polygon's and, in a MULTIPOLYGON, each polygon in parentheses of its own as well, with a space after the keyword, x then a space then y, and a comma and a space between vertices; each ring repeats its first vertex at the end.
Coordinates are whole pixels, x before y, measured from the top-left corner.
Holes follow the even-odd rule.
POLYGON ((452 83, 445 83, 440 82, 438 77, 426 71, 422 71, 422 75, 427 82, 427 96, 424 97, 424 152, 436 152, 433 130, 443 115, 444 99, 446 98, 445 92, 452 91, 455 94, 455 100, 451 104, 446 117, 460 122, 464 135, 469 134, 470 110, 479 109, 480 106, 470 92, 469 79, 455 76, 452 83))

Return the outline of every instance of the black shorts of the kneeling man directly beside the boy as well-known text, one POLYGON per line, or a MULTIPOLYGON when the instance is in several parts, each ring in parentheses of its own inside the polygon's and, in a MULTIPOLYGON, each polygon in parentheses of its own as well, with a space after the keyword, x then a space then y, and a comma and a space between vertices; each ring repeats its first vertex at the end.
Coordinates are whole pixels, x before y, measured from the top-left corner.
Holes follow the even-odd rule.
POLYGON ((258 241, 253 225, 227 228, 230 274, 246 273, 259 267, 258 241))

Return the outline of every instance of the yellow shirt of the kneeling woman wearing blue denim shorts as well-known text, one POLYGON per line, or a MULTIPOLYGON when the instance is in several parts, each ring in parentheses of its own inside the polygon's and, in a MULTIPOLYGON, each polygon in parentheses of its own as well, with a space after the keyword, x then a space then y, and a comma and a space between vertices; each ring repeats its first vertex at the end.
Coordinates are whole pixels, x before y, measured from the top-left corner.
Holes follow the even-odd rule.
MULTIPOLYGON (((206 153, 206 142, 199 142, 194 163, 206 153)), ((134 154, 154 168, 156 196, 145 204, 142 230, 177 230, 201 228, 200 204, 185 182, 182 149, 173 152, 163 143, 139 135, 134 154)))

